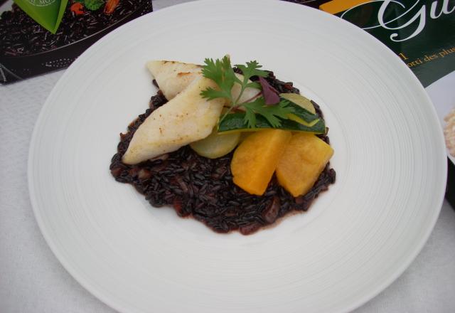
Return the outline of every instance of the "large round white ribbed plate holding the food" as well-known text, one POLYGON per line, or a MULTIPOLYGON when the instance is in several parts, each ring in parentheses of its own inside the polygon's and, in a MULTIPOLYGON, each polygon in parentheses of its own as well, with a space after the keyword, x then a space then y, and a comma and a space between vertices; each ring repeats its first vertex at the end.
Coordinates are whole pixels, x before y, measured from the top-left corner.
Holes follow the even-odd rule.
POLYGON ((28 175, 58 260, 121 312, 336 312, 377 295, 419 253, 446 154, 424 89, 367 33, 287 2, 200 1, 128 23, 76 60, 38 118, 28 175), (225 53, 318 100, 335 149, 336 184, 311 210, 251 236, 151 208, 109 174, 119 132, 156 92, 146 61, 225 53))

